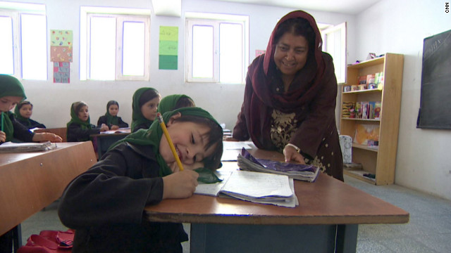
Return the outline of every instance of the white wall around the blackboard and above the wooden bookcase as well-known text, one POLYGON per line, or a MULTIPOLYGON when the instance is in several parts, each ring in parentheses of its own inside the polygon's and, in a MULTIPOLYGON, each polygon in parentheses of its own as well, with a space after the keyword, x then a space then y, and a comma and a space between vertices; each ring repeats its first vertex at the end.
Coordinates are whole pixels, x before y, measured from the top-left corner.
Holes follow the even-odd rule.
POLYGON ((416 129, 423 41, 451 30, 451 13, 445 13, 445 2, 382 0, 360 13, 354 60, 364 60, 369 52, 404 54, 395 183, 451 200, 451 131, 416 129))

